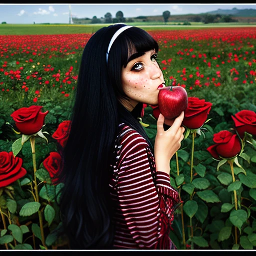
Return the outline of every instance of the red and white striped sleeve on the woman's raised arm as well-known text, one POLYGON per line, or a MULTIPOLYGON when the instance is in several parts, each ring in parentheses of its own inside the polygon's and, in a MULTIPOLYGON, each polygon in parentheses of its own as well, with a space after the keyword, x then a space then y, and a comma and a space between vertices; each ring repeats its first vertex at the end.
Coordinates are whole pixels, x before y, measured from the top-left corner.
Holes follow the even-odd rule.
POLYGON ((153 181, 147 147, 138 133, 126 138, 116 188, 133 239, 140 248, 155 249, 166 238, 166 221, 171 221, 179 197, 170 185, 169 174, 156 171, 156 182, 153 181))

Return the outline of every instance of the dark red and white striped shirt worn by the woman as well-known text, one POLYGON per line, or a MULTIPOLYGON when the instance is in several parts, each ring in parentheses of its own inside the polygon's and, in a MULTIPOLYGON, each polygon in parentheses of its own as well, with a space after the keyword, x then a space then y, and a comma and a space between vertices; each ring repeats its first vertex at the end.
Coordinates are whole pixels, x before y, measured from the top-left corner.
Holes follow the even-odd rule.
POLYGON ((155 168, 150 147, 137 131, 119 124, 109 182, 114 202, 116 249, 175 249, 169 238, 178 192, 170 175, 155 168))

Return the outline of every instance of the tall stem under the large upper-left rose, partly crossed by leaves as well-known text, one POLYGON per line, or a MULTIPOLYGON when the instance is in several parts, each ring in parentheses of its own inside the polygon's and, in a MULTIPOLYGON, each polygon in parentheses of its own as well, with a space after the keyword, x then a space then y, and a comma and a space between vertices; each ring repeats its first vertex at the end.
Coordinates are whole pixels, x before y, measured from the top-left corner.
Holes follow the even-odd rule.
MULTIPOLYGON (((36 181, 36 155, 35 155, 35 137, 31 136, 30 137, 30 143, 31 143, 31 148, 32 148, 32 157, 33 157, 33 169, 34 169, 34 190, 35 190, 35 196, 36 196, 36 201, 39 202, 39 192, 38 192, 38 187, 37 187, 37 181, 36 181)), ((43 231, 43 219, 42 219, 42 213, 40 210, 38 210, 38 216, 39 216, 39 222, 40 222, 40 229, 41 229, 41 236, 42 236, 42 244, 43 246, 47 249, 46 244, 45 244, 45 238, 44 238, 44 231, 43 231)))

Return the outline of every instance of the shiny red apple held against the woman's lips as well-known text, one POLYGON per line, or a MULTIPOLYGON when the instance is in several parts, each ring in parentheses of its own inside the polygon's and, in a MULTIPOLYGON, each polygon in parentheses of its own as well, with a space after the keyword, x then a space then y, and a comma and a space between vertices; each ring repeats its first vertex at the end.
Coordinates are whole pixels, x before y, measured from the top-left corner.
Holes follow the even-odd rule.
POLYGON ((181 86, 168 86, 159 89, 158 106, 166 119, 178 117, 188 105, 186 90, 181 86))

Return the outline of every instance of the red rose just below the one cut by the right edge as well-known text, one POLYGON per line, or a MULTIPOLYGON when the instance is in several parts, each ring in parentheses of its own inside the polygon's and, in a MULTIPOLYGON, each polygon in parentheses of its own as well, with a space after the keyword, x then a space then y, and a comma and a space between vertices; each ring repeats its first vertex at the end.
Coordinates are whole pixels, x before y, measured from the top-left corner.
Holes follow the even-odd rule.
POLYGON ((228 130, 222 130, 213 135, 216 143, 207 148, 207 151, 215 158, 232 158, 241 151, 241 142, 236 134, 228 130))

